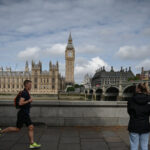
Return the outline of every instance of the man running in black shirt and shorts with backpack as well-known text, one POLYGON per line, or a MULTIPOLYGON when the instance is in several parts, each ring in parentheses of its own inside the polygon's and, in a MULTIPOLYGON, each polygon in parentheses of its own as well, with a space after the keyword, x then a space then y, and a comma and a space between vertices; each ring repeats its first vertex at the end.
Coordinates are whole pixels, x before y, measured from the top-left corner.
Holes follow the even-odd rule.
POLYGON ((32 98, 29 94, 29 91, 31 90, 31 87, 32 81, 25 80, 24 90, 19 92, 19 94, 15 98, 16 108, 19 109, 17 113, 16 127, 8 127, 6 129, 0 130, 0 134, 7 132, 19 132, 23 127, 23 124, 25 124, 28 127, 28 136, 30 140, 29 148, 39 148, 41 147, 41 145, 34 142, 34 126, 30 119, 30 107, 32 98))

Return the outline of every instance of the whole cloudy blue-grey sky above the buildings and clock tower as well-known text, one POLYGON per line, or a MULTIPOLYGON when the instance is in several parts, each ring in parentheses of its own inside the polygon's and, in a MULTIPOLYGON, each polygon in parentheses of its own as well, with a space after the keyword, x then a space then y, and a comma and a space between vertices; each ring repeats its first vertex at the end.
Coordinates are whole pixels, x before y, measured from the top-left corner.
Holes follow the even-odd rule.
POLYGON ((0 0, 0 66, 58 61, 65 76, 70 32, 76 83, 102 66, 150 70, 150 0, 0 0))

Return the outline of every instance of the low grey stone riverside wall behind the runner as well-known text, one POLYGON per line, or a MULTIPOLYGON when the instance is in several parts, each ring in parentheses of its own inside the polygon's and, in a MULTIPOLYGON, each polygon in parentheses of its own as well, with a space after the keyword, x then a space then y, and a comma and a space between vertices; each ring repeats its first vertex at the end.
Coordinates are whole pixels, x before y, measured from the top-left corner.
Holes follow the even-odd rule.
MULTIPOLYGON (((0 100, 0 126, 16 124, 13 101, 0 100)), ((127 126, 125 101, 39 100, 32 103, 31 118, 47 126, 127 126)))

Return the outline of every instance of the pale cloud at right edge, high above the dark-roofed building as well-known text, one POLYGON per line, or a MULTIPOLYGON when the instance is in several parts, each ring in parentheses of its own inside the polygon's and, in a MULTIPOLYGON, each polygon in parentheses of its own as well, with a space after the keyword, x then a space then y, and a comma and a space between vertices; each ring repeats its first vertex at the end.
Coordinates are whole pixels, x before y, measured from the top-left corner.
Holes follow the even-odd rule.
POLYGON ((123 60, 137 60, 150 57, 150 46, 122 46, 116 56, 123 60))

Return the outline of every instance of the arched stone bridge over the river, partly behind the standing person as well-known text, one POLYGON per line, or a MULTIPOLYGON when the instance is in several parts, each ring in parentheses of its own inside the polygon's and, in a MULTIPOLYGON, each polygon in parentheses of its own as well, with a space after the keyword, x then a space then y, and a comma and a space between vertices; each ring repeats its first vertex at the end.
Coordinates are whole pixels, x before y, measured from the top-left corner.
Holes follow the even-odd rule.
POLYGON ((92 87, 85 90, 85 100, 106 100, 106 101, 127 101, 134 91, 135 85, 139 83, 148 83, 150 87, 150 80, 128 81, 119 84, 104 84, 99 87, 92 87))

